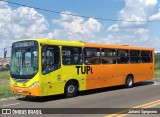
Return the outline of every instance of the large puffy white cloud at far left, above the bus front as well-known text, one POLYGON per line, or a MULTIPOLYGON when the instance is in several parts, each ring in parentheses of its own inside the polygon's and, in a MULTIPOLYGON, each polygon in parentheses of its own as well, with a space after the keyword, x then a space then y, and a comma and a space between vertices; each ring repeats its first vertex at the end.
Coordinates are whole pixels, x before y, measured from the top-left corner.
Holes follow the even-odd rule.
POLYGON ((12 9, 6 2, 0 2, 0 51, 23 38, 52 37, 45 17, 33 8, 12 9))

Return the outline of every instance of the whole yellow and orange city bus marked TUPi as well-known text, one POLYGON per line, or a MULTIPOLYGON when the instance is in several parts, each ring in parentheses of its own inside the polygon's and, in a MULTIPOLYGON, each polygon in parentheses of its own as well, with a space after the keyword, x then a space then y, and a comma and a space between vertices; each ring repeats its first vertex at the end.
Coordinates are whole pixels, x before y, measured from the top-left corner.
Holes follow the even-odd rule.
POLYGON ((10 84, 26 96, 65 94, 154 78, 154 49, 26 39, 12 44, 10 84))

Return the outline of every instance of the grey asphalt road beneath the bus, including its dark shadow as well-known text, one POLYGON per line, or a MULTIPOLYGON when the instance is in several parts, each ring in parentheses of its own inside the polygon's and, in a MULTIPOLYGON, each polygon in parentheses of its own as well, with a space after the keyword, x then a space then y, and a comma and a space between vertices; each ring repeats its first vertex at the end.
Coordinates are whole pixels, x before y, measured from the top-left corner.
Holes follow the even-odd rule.
MULTIPOLYGON (((113 112, 121 112, 127 108, 143 108, 144 106, 148 108, 160 107, 160 80, 137 83, 133 88, 116 86, 83 91, 74 98, 64 98, 63 95, 57 95, 0 100, 1 111, 6 108, 12 109, 12 114, 14 114, 10 115, 12 117, 22 116, 20 114, 24 114, 23 116, 26 117, 104 117, 114 116, 113 112), (42 113, 42 115, 25 115, 32 113, 30 108, 32 108, 31 111, 34 110, 35 113, 42 113), (45 115, 44 113, 56 114, 45 115)), ((5 112, 6 110, 3 110, 3 113, 5 112)), ((1 114, 1 116, 8 117, 9 115, 1 114)))

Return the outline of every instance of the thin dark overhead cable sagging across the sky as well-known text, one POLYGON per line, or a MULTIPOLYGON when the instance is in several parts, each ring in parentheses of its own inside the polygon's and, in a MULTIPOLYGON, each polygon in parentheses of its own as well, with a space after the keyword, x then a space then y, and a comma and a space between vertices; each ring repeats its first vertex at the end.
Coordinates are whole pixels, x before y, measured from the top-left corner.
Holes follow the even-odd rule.
POLYGON ((14 5, 17 5, 17 6, 23 6, 23 7, 28 7, 28 8, 34 8, 34 9, 37 9, 37 10, 41 10, 41 11, 46 11, 46 12, 51 12, 51 13, 56 13, 56 14, 64 14, 64 15, 70 15, 70 16, 75 16, 75 17, 82 17, 82 18, 94 18, 94 19, 97 19, 97 20, 106 20, 106 21, 113 21, 113 22, 157 22, 157 21, 160 21, 160 20, 141 20, 141 21, 135 21, 135 20, 124 20, 124 19, 119 19, 119 20, 116 20, 116 19, 110 19, 110 18, 100 18, 100 17, 90 17, 90 16, 84 16, 84 15, 76 15, 76 14, 72 14, 72 13, 65 13, 65 12, 60 12, 60 11, 55 11, 55 10, 49 10, 49 9, 44 9, 44 8, 39 8, 39 7, 33 7, 33 6, 29 6, 29 5, 25 5, 25 4, 20 4, 20 3, 16 3, 16 2, 11 2, 11 1, 6 1, 6 0, 0 0, 0 1, 3 1, 3 2, 7 2, 7 3, 10 3, 10 4, 14 4, 14 5))

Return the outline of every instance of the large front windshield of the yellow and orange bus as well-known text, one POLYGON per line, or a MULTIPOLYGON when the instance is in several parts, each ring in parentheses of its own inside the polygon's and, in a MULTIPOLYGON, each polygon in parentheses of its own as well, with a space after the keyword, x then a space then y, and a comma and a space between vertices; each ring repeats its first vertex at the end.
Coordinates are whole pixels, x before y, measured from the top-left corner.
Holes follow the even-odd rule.
POLYGON ((12 47, 10 72, 13 78, 32 78, 38 72, 38 48, 12 47))

